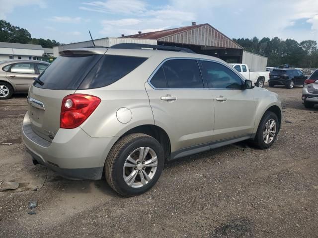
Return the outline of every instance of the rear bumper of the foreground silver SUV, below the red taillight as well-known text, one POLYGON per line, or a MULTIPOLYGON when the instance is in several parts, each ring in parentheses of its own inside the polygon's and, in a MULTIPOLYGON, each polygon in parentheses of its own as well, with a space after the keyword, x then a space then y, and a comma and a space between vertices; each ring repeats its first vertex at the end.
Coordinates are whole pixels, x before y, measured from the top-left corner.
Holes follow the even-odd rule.
POLYGON ((59 129, 52 142, 31 129, 29 115, 23 120, 22 138, 32 158, 59 174, 75 179, 101 179, 107 154, 118 137, 94 138, 81 128, 59 129))

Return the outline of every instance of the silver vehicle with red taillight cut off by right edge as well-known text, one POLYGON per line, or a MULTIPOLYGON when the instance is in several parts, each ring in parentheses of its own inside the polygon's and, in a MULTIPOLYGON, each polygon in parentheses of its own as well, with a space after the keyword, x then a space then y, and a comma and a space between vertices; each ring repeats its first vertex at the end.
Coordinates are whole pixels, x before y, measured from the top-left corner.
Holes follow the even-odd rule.
POLYGON ((306 108, 318 104, 318 70, 305 80, 302 99, 306 108))

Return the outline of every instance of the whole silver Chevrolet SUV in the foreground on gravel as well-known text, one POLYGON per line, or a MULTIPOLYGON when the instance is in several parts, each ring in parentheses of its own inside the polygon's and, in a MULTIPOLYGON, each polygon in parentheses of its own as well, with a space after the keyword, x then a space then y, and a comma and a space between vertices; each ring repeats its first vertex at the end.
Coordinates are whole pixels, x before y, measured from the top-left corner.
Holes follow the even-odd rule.
POLYGON ((266 149, 282 119, 278 95, 223 60, 164 46, 60 52, 27 101, 23 141, 35 164, 69 178, 105 174, 123 196, 154 186, 165 161, 247 139, 266 149))

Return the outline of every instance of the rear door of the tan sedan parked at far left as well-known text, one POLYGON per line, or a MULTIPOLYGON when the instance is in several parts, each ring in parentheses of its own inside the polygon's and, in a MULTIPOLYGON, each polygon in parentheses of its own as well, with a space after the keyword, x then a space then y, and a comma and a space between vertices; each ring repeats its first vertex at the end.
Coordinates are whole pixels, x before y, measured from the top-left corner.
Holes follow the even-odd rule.
POLYGON ((16 91, 28 91, 30 85, 37 77, 33 62, 19 62, 14 63, 6 73, 6 77, 10 80, 16 88, 16 91))

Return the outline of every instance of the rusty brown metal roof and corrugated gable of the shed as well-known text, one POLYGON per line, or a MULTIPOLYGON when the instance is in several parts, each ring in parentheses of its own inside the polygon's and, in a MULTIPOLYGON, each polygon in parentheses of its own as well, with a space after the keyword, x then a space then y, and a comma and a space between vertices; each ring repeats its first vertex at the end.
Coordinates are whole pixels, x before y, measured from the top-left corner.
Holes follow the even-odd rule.
POLYGON ((156 39, 159 42, 243 49, 208 23, 141 33, 123 38, 156 39))

